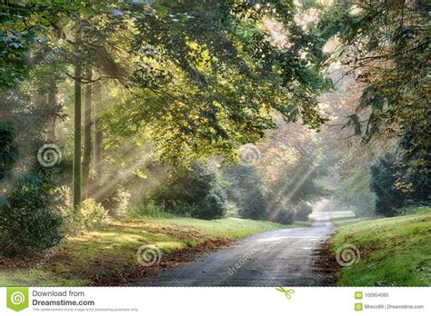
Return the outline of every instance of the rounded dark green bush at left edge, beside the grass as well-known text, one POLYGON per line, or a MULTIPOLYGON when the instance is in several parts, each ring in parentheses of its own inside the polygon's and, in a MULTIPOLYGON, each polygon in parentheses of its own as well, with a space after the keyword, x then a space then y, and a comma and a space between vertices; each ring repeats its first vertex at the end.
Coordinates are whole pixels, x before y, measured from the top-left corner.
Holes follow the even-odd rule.
POLYGON ((0 254, 25 255, 55 246, 62 240, 61 201, 55 195, 52 174, 42 170, 17 179, 0 205, 0 254))

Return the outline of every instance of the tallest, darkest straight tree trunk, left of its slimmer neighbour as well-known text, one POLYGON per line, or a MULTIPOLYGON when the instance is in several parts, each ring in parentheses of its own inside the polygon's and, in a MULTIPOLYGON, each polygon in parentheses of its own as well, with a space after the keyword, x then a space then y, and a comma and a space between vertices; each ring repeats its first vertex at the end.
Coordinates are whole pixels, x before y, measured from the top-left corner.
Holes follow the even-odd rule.
POLYGON ((76 212, 81 210, 81 76, 82 63, 79 56, 79 41, 81 25, 76 23, 75 36, 75 135, 74 135, 74 166, 73 166, 73 195, 76 212))

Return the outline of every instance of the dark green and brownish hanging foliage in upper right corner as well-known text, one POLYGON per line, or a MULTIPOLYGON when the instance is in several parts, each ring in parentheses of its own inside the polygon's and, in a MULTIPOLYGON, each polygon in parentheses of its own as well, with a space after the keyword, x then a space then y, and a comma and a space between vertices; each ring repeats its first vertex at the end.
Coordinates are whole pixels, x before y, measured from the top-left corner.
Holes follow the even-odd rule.
POLYGON ((413 137, 404 149, 419 159, 429 152, 431 130, 426 4, 361 0, 355 6, 356 12, 343 2, 327 8, 317 32, 325 38, 337 36, 341 44, 332 56, 346 64, 348 71, 360 70, 357 79, 366 84, 346 126, 352 126, 365 142, 373 136, 410 133, 413 137))

